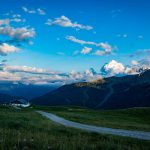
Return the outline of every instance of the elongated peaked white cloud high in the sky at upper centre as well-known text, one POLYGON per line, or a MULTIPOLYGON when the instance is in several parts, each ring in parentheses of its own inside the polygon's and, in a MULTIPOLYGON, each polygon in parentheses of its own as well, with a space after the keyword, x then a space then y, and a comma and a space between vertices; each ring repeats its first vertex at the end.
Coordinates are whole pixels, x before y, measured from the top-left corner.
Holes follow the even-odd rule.
POLYGON ((72 22, 66 16, 61 16, 59 18, 55 18, 54 20, 48 19, 45 24, 47 24, 49 26, 58 25, 61 27, 71 27, 71 28, 75 28, 75 29, 84 29, 84 30, 92 30, 93 29, 93 27, 91 27, 89 25, 82 25, 77 22, 72 22))

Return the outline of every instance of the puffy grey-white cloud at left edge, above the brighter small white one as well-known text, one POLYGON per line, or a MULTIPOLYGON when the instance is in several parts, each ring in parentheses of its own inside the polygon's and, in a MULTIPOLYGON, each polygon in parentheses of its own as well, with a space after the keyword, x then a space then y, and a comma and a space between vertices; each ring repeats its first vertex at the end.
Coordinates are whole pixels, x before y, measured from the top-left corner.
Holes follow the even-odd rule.
POLYGON ((10 26, 0 27, 0 34, 7 35, 16 40, 26 40, 35 36, 34 28, 13 28, 10 26))

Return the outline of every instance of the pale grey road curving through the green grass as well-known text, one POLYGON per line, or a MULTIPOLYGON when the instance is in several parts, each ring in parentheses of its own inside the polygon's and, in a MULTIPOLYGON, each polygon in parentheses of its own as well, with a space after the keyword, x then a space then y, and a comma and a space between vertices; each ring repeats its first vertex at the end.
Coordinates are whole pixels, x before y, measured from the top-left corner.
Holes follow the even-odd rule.
POLYGON ((66 127, 82 129, 82 130, 86 130, 89 132, 97 132, 97 133, 102 133, 102 134, 112 134, 112 135, 119 135, 119 136, 142 139, 142 140, 150 140, 150 132, 130 131, 130 130, 122 130, 122 129, 97 127, 97 126, 93 126, 93 125, 86 125, 86 124, 69 121, 64 118, 58 117, 52 113, 47 113, 44 111, 36 111, 36 112, 40 113, 41 115, 49 118, 50 120, 52 120, 56 123, 59 123, 66 127))

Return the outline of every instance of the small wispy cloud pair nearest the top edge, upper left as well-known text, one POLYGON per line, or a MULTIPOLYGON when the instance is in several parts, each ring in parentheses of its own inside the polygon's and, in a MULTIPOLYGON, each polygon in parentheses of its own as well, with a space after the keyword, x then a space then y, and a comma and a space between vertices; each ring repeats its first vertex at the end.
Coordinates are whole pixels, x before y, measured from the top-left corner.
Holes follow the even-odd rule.
POLYGON ((39 15, 45 15, 45 11, 42 10, 41 8, 37 8, 37 9, 28 9, 26 7, 22 7, 23 11, 29 14, 39 14, 39 15))

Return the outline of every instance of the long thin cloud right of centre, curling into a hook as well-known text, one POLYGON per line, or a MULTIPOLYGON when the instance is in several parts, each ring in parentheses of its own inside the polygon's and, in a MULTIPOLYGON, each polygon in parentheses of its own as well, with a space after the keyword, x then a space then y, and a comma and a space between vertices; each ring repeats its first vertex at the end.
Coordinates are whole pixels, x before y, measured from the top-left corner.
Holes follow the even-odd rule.
POLYGON ((92 42, 92 41, 84 41, 84 40, 77 39, 74 36, 66 36, 66 39, 69 40, 69 41, 72 41, 74 43, 81 44, 81 45, 94 45, 94 46, 102 49, 102 50, 97 50, 94 53, 94 55, 100 55, 101 56, 101 55, 110 54, 114 49, 107 42, 105 42, 105 43, 104 42, 96 43, 96 42, 92 42))

